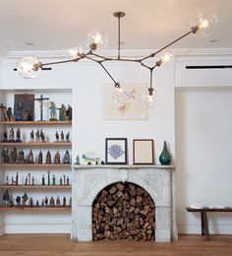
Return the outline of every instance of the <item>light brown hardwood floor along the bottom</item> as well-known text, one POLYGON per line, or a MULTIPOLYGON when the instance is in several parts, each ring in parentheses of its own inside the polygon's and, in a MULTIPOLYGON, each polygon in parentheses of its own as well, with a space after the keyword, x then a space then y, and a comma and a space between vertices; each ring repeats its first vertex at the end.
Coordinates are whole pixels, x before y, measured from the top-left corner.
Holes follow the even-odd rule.
POLYGON ((0 256, 222 256, 232 255, 232 235, 180 235, 170 243, 136 241, 76 242, 68 234, 6 234, 0 256))

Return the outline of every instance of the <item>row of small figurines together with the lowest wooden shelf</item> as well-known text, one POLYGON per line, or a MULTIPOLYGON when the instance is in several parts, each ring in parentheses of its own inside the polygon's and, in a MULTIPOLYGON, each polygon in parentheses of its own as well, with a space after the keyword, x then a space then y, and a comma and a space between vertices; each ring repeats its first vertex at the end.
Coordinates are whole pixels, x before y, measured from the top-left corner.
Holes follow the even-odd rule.
POLYGON ((65 196, 61 200, 59 195, 56 196, 56 199, 54 196, 51 196, 50 199, 45 196, 41 202, 39 201, 39 199, 34 200, 27 192, 23 196, 17 195, 14 200, 11 193, 6 190, 3 193, 3 204, 0 205, 0 211, 64 211, 72 208, 72 197, 69 198, 68 202, 65 196))

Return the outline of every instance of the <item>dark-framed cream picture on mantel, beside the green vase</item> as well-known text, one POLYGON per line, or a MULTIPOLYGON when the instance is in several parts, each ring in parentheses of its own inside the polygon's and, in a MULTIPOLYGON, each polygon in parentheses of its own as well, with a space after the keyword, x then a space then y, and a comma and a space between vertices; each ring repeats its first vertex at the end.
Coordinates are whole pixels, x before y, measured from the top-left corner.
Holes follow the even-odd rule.
POLYGON ((154 164, 153 140, 133 140, 133 163, 154 164))

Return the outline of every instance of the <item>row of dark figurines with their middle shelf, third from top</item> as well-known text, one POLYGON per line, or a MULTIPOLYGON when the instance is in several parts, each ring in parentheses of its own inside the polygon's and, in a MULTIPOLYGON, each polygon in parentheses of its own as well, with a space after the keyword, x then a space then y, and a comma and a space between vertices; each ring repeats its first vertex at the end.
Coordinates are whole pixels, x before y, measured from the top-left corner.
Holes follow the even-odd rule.
POLYGON ((37 160, 35 162, 32 150, 29 150, 28 156, 26 156, 23 149, 17 150, 13 148, 9 150, 8 148, 4 148, 2 150, 2 163, 1 166, 10 167, 10 166, 31 166, 31 167, 47 167, 47 166, 71 166, 71 156, 68 150, 66 150, 63 158, 61 158, 61 154, 59 151, 56 151, 54 155, 54 160, 52 161, 50 151, 47 151, 45 156, 45 161, 43 160, 43 153, 40 150, 37 156, 37 160))

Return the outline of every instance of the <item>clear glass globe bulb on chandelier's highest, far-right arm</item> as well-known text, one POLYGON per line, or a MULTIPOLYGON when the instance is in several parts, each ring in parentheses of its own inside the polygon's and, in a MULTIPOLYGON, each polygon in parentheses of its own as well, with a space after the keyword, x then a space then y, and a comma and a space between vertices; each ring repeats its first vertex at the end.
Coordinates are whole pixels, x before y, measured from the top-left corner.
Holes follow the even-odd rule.
POLYGON ((217 24, 217 17, 214 14, 201 13, 193 19, 192 28, 197 27, 194 34, 197 37, 205 37, 209 35, 217 24))

